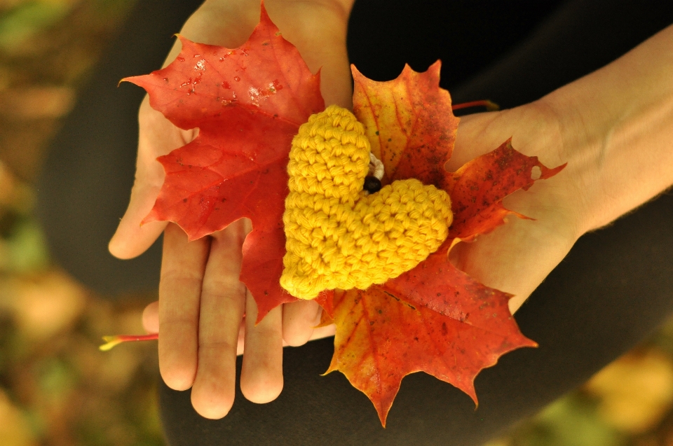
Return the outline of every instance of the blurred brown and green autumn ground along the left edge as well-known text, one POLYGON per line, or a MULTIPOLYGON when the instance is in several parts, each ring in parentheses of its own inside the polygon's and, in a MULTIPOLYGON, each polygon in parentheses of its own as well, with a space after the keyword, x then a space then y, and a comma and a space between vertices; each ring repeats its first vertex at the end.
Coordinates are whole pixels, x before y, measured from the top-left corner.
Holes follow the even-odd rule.
POLYGON ((0 445, 159 446, 156 295, 111 303, 50 263, 32 214, 43 147, 132 0, 0 0, 0 445), (126 348, 128 347, 128 348, 126 348))

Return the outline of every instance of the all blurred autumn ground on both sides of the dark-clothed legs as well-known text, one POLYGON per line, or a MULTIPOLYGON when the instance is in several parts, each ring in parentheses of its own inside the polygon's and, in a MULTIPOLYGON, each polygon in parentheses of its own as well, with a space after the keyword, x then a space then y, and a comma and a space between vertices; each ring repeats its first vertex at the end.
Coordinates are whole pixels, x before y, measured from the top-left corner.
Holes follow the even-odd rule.
MULTIPOLYGON (((0 445, 163 445, 156 295, 100 296, 50 262, 32 214, 50 138, 133 0, 0 0, 0 445), (106 298, 107 297, 107 298, 106 298), (114 297, 114 299, 109 299, 114 297)), ((673 321, 488 446, 673 446, 673 321)))

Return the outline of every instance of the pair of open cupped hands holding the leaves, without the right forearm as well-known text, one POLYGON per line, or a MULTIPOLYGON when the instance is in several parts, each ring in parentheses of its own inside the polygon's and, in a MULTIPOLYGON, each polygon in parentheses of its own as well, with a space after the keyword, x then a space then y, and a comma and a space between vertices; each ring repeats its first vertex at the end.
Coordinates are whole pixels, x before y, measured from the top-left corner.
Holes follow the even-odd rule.
MULTIPOLYGON (((297 46, 308 68, 315 73, 322 67, 325 104, 347 108, 352 106, 346 54, 352 5, 353 0, 265 1, 271 20, 297 46)), ((236 48, 247 41, 257 22, 257 0, 208 0, 180 33, 192 41, 236 48)), ((178 41, 166 64, 175 59, 179 48, 178 41)), ((283 346, 334 335, 334 326, 314 328, 322 309, 313 301, 282 305, 254 324, 257 306, 238 280, 241 246, 250 231, 247 219, 193 242, 187 242, 174 223, 140 225, 163 183, 163 167, 156 158, 184 146, 198 130, 175 127, 151 109, 147 97, 139 120, 135 184, 109 250, 118 258, 133 258, 163 232, 159 300, 143 314, 144 328, 161 334, 161 376, 172 389, 191 387, 191 402, 203 417, 224 417, 235 394, 236 356, 245 347, 240 389, 254 403, 271 401, 283 388, 283 346)), ((566 162, 557 111, 543 98, 516 109, 463 117, 447 169, 454 172, 509 137, 518 151, 538 155, 548 167, 566 162)), ((510 300, 514 312, 587 229, 578 193, 569 166, 526 193, 510 195, 505 207, 536 221, 510 218, 476 242, 455 246, 451 262, 483 284, 514 295, 510 300)))

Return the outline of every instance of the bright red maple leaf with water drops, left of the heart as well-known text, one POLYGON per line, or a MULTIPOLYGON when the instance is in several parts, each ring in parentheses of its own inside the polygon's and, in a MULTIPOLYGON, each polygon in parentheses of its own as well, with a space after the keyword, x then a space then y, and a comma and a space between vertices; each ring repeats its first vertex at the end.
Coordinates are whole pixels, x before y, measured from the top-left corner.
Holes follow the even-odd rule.
POLYGON ((320 74, 311 74, 297 48, 268 18, 239 48, 193 43, 164 69, 125 78, 149 93, 171 123, 198 127, 191 143, 158 158, 166 176, 144 223, 177 223, 198 239, 247 217, 240 280, 261 321, 273 307, 296 300, 280 288, 290 142, 308 116, 325 109, 320 74))

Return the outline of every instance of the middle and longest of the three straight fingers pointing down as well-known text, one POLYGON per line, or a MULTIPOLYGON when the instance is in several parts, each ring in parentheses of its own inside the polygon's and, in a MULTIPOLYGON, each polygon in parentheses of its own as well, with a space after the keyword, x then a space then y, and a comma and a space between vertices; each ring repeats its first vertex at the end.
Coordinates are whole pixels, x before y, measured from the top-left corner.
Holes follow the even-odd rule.
POLYGON ((245 222, 216 232, 210 244, 201 290, 198 325, 198 368, 191 403, 201 416, 224 417, 236 390, 236 349, 245 311, 245 285, 240 276, 245 222))

